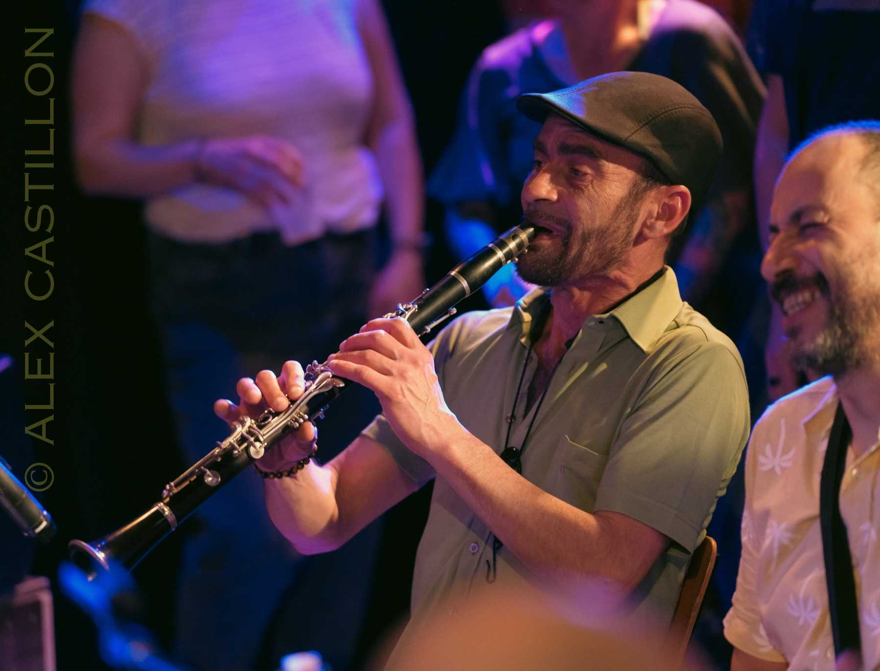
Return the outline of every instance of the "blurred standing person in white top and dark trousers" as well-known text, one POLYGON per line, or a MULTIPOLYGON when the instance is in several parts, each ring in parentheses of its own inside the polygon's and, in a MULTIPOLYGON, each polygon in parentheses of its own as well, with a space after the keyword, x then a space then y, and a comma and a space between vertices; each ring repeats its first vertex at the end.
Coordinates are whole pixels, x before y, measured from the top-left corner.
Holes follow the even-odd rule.
MULTIPOLYGON (((72 89, 80 185, 144 202, 187 463, 228 433, 211 405, 239 377, 326 356, 424 287, 422 166, 377 0, 87 0, 72 89), (383 205, 391 253, 374 274, 383 205)), ((325 458, 378 407, 347 396, 322 427, 325 458)), ((247 476, 199 516, 205 531, 187 538, 181 567, 179 653, 194 667, 253 667, 304 569, 247 476)), ((336 619, 334 667, 356 644, 376 543, 368 533, 331 560, 341 566, 308 569, 316 584, 338 580, 360 555, 347 614, 322 604, 304 616, 336 619)), ((308 627, 297 630, 305 640, 291 634, 291 647, 309 645, 308 627)))

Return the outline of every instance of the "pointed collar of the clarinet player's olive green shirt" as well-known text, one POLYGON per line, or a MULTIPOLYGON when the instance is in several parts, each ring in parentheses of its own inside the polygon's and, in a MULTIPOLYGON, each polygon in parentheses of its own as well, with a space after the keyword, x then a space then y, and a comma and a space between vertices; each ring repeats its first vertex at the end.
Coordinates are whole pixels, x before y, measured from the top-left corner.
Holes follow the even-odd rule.
MULTIPOLYGON (((549 288, 535 288, 520 298, 514 306, 510 325, 518 329, 519 341, 525 346, 529 344, 529 331, 533 320, 539 317, 549 297, 549 288)), ((614 317, 623 326, 630 339, 643 352, 647 352, 678 315, 682 304, 675 273, 672 272, 671 267, 664 266, 663 274, 656 281, 631 295, 604 315, 589 317, 585 323, 596 320, 607 322, 609 317, 614 317)))

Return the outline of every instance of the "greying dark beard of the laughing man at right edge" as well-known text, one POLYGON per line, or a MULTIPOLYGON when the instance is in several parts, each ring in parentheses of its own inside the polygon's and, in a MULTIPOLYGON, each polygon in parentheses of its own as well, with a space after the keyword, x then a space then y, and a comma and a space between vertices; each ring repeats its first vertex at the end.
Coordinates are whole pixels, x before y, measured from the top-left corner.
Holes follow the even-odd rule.
POLYGON ((824 376, 842 376, 847 371, 859 368, 866 358, 861 346, 862 325, 871 310, 857 304, 847 291, 832 295, 828 281, 822 274, 804 280, 791 277, 777 281, 773 294, 778 297, 782 291, 805 288, 816 288, 825 297, 830 306, 829 314, 825 326, 812 341, 796 349, 793 347, 792 362, 798 368, 809 368, 824 376))

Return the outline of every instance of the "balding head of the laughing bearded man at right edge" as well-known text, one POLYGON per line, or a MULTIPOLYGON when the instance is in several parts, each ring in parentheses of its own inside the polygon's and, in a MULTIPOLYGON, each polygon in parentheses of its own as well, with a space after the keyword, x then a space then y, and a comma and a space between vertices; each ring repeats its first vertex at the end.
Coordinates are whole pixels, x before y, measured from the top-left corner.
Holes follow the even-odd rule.
POLYGON ((761 273, 804 368, 838 376, 880 353, 880 123, 827 128, 782 169, 761 273))

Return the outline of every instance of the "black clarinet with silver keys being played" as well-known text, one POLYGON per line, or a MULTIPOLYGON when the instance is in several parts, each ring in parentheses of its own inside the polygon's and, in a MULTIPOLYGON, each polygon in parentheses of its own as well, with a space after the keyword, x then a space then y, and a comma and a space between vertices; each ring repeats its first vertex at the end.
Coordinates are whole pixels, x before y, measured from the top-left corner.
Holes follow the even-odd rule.
MULTIPOLYGON (((479 289, 505 264, 515 261, 532 242, 535 230, 523 224, 506 230, 491 243, 451 269, 433 287, 410 303, 401 303, 385 317, 401 317, 419 336, 456 313, 453 307, 479 289)), ((304 422, 324 419, 330 403, 352 383, 334 376, 325 363, 305 368, 303 395, 286 410, 267 410, 256 419, 242 417, 231 424, 232 433, 178 478, 165 485, 162 500, 136 520, 92 543, 72 540, 70 558, 90 576, 109 570, 111 562, 134 568, 150 551, 177 529, 195 509, 220 490, 266 450, 304 422)))

